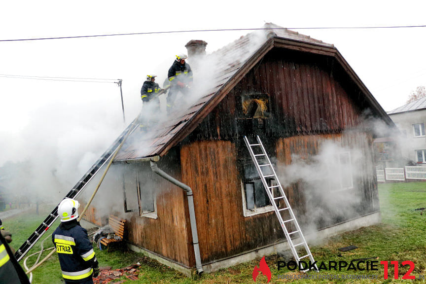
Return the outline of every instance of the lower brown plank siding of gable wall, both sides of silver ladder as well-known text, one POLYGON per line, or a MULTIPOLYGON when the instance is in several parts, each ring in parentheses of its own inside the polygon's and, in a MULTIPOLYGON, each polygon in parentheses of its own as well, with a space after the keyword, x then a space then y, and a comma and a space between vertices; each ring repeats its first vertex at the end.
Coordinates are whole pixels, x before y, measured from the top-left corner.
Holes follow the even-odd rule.
MULTIPOLYGON (((276 142, 277 175, 285 171, 285 166, 292 163, 291 156, 296 154, 303 159, 317 155, 323 142, 332 141, 342 146, 362 148, 362 174, 354 177, 354 189, 357 199, 356 213, 341 214, 348 204, 336 208, 336 212, 326 211, 330 216, 313 216, 316 211, 307 210, 306 185, 295 182, 284 188, 302 227, 312 226, 316 229, 373 213, 379 210, 377 196, 375 205, 372 196, 376 193, 371 161, 370 139, 366 134, 321 134, 282 138, 276 142), (335 214, 334 216, 332 214, 335 214), (315 221, 315 222, 314 222, 315 221)), ((274 212, 260 213, 245 217, 243 214, 243 194, 241 175, 237 165, 237 150, 229 141, 199 141, 182 146, 181 151, 182 181, 194 191, 195 214, 203 263, 229 257, 244 251, 273 244, 284 239, 284 234, 274 212)), ((322 193, 321 193, 322 194, 322 193)), ((329 198, 345 195, 345 192, 324 193, 329 198)), ((349 197, 348 197, 349 199, 349 197)), ((350 200, 347 200, 350 203, 350 200)), ((317 204, 314 208, 321 207, 317 204)), ((355 211, 354 211, 355 212, 355 211)))

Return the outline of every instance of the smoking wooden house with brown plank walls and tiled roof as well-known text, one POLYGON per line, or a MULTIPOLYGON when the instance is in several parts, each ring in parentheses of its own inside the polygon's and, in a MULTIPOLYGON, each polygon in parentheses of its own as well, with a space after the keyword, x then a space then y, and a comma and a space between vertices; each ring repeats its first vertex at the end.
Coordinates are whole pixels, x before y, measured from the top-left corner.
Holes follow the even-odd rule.
POLYGON ((285 249, 243 142, 258 135, 308 239, 380 222, 363 113, 391 119, 332 44, 264 28, 208 55, 206 42, 188 42, 194 78, 214 62, 212 84, 161 126, 130 134, 96 197, 120 206, 97 202, 87 219, 120 215, 131 249, 186 274, 285 249))

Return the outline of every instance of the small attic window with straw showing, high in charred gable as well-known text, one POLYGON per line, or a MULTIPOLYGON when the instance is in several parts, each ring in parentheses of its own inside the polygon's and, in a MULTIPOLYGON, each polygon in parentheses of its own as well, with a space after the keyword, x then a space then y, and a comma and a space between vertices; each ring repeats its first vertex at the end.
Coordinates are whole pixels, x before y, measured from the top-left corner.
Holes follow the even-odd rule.
POLYGON ((251 94, 241 96, 243 118, 269 118, 269 95, 251 94))

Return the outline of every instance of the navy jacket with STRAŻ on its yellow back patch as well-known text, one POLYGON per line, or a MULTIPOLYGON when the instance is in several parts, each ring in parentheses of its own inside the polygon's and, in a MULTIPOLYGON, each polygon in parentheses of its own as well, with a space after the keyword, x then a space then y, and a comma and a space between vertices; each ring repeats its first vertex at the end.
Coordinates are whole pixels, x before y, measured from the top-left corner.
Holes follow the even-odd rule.
POLYGON ((62 277, 67 282, 79 283, 92 279, 98 260, 86 229, 77 220, 61 223, 53 232, 52 241, 58 252, 62 277))

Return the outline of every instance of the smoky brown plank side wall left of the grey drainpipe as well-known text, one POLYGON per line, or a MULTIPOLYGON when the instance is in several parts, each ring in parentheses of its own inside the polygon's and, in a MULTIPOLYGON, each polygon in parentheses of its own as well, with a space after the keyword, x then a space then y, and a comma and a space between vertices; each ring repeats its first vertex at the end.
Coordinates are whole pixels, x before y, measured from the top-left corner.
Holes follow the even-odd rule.
MULTIPOLYGON (((158 162, 158 167, 180 179, 178 155, 174 150, 158 162)), ((96 184, 97 180, 94 180, 86 190, 91 193, 96 184)), ((84 201, 82 205, 84 205, 84 201)), ((87 211, 85 219, 99 226, 106 225, 109 214, 115 214, 127 220, 127 241, 129 243, 186 267, 195 263, 186 193, 183 189, 153 173, 149 163, 113 164, 94 203, 87 211), (154 190, 156 194, 157 219, 139 215, 138 177, 141 192, 154 190), (127 209, 135 210, 135 212, 124 213, 123 179, 127 209), (100 203, 96 199, 106 202, 100 203), (113 207, 107 208, 109 205, 113 205, 113 207), (99 211, 97 207, 99 207, 99 211)))

